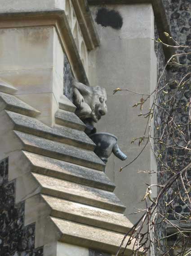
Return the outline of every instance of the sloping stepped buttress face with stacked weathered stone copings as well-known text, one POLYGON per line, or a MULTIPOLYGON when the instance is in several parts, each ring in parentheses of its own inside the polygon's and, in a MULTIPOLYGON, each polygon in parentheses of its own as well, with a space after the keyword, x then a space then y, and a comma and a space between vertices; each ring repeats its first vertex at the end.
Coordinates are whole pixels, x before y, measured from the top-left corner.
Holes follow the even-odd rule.
POLYGON ((35 247, 56 256, 46 246, 59 241, 115 253, 132 224, 75 106, 60 102, 50 127, 36 118, 38 110, 10 94, 14 89, 0 90, 0 158, 9 162, 15 204, 25 205, 25 226, 35 223, 35 247))

